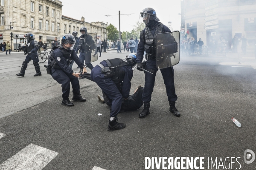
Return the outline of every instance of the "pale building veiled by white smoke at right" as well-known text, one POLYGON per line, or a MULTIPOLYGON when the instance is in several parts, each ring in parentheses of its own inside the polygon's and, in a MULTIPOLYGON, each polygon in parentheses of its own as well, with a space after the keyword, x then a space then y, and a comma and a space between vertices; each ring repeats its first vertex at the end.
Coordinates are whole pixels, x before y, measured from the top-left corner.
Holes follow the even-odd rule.
POLYGON ((221 36, 231 47, 234 35, 248 39, 256 36, 256 0, 181 0, 181 29, 204 44, 221 36))

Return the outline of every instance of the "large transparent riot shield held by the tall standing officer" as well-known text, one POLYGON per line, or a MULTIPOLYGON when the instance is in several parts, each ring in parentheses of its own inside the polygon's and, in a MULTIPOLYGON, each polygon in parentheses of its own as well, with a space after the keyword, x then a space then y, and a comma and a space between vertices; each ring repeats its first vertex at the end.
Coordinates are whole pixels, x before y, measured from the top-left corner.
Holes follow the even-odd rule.
POLYGON ((166 32, 156 35, 157 68, 167 68, 180 62, 180 32, 166 32))

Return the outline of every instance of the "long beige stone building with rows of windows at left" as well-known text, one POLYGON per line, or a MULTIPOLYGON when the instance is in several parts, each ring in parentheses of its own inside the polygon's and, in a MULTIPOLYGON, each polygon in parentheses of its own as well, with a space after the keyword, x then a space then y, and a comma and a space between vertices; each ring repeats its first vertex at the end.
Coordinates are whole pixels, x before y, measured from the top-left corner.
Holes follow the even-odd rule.
POLYGON ((106 32, 105 25, 85 22, 84 17, 76 20, 63 16, 59 0, 0 0, 0 42, 11 42, 12 32, 12 49, 16 49, 16 42, 24 41, 28 32, 35 36, 35 40, 46 41, 50 48, 55 37, 61 40, 64 34, 73 31, 80 34, 83 26, 89 33, 97 31, 102 36, 106 32))

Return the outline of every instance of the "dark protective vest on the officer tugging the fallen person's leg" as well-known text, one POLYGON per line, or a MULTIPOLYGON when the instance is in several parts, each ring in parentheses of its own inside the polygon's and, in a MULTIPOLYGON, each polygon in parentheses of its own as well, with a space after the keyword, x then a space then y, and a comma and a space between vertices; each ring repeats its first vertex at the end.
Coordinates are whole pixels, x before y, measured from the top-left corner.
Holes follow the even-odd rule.
POLYGON ((48 59, 48 65, 55 69, 61 69, 58 65, 58 62, 56 62, 55 58, 53 57, 53 51, 56 48, 59 48, 61 50, 61 52, 63 53, 63 57, 66 59, 67 65, 70 65, 73 62, 73 59, 71 57, 72 51, 68 52, 62 45, 56 45, 52 48, 48 59))

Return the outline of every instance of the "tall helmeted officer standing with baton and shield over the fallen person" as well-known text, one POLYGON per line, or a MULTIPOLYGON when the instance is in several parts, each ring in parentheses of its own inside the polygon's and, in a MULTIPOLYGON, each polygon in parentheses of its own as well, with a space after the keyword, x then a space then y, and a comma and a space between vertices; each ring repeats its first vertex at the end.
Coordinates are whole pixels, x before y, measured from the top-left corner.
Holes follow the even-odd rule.
MULTIPOLYGON (((154 82, 157 72, 157 61, 156 61, 156 35, 162 32, 171 32, 168 27, 160 23, 157 18, 156 11, 153 8, 145 8, 141 13, 140 17, 143 17, 143 22, 145 23, 145 28, 140 32, 140 43, 137 49, 137 69, 143 71, 143 53, 146 51, 146 65, 145 70, 151 73, 145 72, 145 88, 142 96, 144 109, 140 113, 139 117, 144 118, 147 116, 150 107, 151 94, 154 88, 154 82)), ((172 67, 160 69, 164 84, 166 85, 166 94, 169 100, 169 111, 175 116, 179 117, 180 113, 175 107, 177 100, 177 95, 175 93, 174 86, 174 70, 172 67)))

